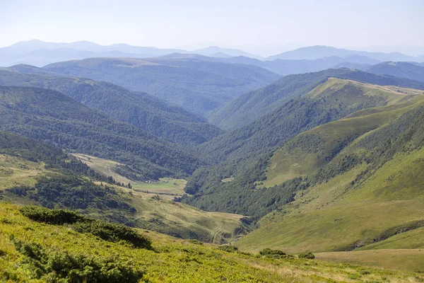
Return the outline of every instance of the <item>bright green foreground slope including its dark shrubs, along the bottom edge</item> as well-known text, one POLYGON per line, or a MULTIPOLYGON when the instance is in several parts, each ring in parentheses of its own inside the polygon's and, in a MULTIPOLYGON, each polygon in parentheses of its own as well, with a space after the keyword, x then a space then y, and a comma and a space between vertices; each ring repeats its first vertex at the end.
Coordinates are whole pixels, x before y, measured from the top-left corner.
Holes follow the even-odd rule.
POLYGON ((153 250, 134 248, 69 226, 32 221, 18 209, 0 202, 0 279, 6 282, 45 282, 71 276, 73 282, 423 281, 422 275, 412 272, 228 253, 213 245, 147 231, 143 233, 151 239, 153 250))

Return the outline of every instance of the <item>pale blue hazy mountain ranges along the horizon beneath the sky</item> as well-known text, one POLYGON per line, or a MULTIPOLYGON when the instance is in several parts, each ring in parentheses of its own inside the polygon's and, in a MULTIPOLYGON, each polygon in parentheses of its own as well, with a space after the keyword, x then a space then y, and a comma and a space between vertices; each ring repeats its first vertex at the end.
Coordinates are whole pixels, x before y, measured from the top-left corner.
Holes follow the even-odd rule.
MULTIPOLYGON (((346 62, 357 64, 375 64, 377 62, 385 61, 424 62, 424 52, 418 55, 408 55, 402 54, 401 52, 367 52, 320 45, 301 47, 293 51, 275 54, 271 57, 261 57, 257 54, 251 54, 242 50, 216 46, 206 47, 200 50, 178 50, 160 49, 156 47, 137 47, 126 44, 103 46, 88 41, 56 43, 43 42, 41 40, 29 40, 0 48, 0 66, 8 67, 15 64, 30 64, 37 67, 43 67, 47 64, 69 61, 71 59, 86 59, 91 57, 150 58, 172 53, 200 54, 220 59, 248 57, 264 61, 273 61, 275 59, 314 60, 324 57, 339 57, 346 60, 346 62)), ((311 71, 319 70, 316 69, 311 71)))

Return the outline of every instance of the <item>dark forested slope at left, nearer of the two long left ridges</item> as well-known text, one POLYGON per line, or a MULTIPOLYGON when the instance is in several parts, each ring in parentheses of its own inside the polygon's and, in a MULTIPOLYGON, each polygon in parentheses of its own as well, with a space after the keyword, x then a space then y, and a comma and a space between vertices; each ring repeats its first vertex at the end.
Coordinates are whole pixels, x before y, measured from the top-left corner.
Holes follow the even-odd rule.
POLYGON ((121 161, 141 178, 192 173, 201 164, 182 146, 154 137, 43 88, 0 87, 0 129, 69 151, 121 161))

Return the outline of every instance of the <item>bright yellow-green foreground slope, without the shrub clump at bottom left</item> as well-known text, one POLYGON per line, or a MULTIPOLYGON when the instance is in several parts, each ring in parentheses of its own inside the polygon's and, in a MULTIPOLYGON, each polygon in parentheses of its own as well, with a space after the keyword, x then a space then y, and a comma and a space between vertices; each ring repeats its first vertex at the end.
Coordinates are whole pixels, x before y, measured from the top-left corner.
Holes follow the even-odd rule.
MULTIPOLYGON (((0 202, 0 280, 42 282, 34 267, 11 242, 36 243, 47 253, 115 258, 141 270, 139 282, 422 282, 423 276, 321 260, 276 260, 259 255, 228 253, 216 246, 177 240, 140 230, 151 238, 153 250, 111 243, 70 226, 30 221, 18 206, 0 202)), ((322 257, 324 258, 324 257, 322 257)), ((60 266, 56 267, 57 269, 60 266)))

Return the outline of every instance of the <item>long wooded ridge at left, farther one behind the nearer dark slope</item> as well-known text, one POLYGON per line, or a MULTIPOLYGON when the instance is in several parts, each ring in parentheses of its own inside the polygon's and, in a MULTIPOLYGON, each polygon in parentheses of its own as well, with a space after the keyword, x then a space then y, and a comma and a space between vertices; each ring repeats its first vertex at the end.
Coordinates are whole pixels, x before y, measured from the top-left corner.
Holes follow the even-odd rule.
POLYGON ((89 108, 102 110, 117 120, 179 144, 201 144, 222 132, 209 125, 203 117, 146 93, 131 93, 112 83, 91 79, 52 76, 51 72, 32 66, 18 65, 10 69, 33 71, 42 75, 0 71, 0 85, 32 86, 59 91, 89 108), (45 76, 45 72, 49 76, 45 76))

